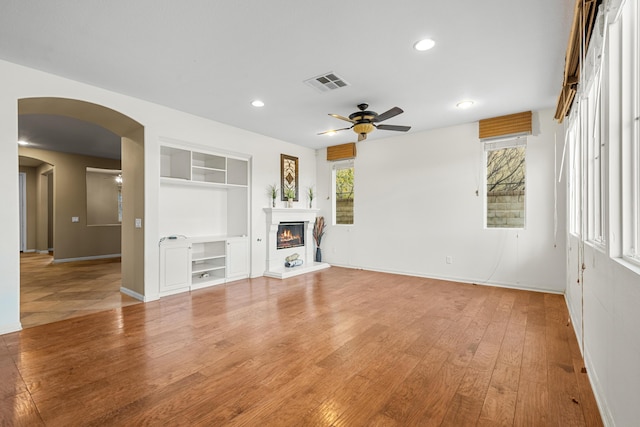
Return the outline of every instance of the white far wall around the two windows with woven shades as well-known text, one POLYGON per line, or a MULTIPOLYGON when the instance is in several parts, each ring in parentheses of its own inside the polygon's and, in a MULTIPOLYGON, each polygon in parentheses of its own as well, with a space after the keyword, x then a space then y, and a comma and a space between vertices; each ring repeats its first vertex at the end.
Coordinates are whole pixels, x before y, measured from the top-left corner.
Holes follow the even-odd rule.
MULTIPOLYGON (((535 112, 526 163, 526 229, 484 228, 484 154, 477 123, 358 143, 353 226, 331 226, 323 260, 337 265, 541 291, 565 288, 564 223, 554 234, 562 128, 535 112), (557 156, 556 156, 556 151, 557 156), (557 159, 556 159, 557 157, 557 159), (476 195, 476 190, 479 195, 476 195), (447 264, 447 256, 453 263, 447 264)), ((331 218, 331 168, 318 156, 318 207, 331 218)), ((558 186, 558 218, 564 190, 558 186)))

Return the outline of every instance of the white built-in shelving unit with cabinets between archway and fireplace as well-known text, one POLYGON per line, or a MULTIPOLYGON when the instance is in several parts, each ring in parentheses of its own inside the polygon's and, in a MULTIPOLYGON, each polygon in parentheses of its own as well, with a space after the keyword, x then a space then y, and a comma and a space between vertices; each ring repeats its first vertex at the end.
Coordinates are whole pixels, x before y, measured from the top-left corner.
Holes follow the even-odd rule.
POLYGON ((160 296, 248 277, 248 157, 162 145, 160 184, 160 296))

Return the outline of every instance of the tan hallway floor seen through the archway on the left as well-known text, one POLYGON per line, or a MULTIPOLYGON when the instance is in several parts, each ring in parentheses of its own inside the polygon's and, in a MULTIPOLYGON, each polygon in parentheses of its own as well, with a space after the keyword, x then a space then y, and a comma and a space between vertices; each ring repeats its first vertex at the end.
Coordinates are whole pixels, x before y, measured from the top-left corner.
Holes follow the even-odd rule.
POLYGON ((47 254, 20 254, 23 328, 137 304, 120 292, 120 259, 52 264, 47 254))

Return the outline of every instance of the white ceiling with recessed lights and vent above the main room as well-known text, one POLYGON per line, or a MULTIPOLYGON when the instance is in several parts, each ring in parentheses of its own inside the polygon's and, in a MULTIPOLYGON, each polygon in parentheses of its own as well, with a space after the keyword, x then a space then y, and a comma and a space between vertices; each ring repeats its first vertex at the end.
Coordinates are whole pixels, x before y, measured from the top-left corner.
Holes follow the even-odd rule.
MULTIPOLYGON (((3 0, 0 59, 321 148, 355 141, 317 133, 349 126, 328 113, 362 102, 401 107, 385 124, 409 132, 553 108, 573 3, 3 0), (414 50, 422 38, 435 47, 414 50), (349 85, 321 93, 303 83, 326 72, 349 85), (467 99, 473 107, 456 108, 467 99)), ((24 117, 20 133, 64 142, 82 127, 64 120, 24 117)))

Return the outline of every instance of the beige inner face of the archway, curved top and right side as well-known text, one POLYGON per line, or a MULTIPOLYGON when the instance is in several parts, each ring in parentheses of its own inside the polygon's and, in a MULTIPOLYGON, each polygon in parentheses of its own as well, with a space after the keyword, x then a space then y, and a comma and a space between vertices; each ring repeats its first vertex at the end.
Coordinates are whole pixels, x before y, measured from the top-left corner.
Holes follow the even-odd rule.
MULTIPOLYGON (((18 114, 50 114, 94 123, 121 138, 122 291, 144 298, 144 128, 130 117, 86 101, 67 98, 18 100, 18 114)), ((16 159, 17 161, 17 159, 16 159)), ((64 185, 64 183, 61 183, 64 185)), ((64 221, 67 218, 56 218, 64 221)), ((54 224, 54 229, 56 225, 54 224)))

